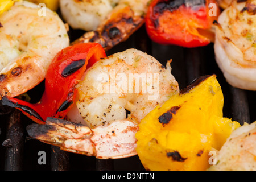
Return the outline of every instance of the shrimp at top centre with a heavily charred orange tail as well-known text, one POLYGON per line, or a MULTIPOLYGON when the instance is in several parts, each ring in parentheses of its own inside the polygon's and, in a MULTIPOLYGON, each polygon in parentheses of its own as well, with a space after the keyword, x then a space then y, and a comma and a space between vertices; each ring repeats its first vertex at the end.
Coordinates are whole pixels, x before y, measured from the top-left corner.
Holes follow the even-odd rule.
POLYGON ((96 42, 108 50, 142 26, 148 1, 60 0, 60 10, 72 28, 88 31, 72 44, 96 42))

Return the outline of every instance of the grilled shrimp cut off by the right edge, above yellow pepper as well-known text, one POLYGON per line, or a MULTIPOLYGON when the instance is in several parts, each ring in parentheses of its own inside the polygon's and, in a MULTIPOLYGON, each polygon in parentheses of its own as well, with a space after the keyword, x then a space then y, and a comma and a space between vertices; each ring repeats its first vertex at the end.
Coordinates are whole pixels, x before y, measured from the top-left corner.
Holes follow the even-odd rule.
POLYGON ((214 52, 230 85, 256 90, 256 15, 254 1, 233 1, 218 18, 214 52))

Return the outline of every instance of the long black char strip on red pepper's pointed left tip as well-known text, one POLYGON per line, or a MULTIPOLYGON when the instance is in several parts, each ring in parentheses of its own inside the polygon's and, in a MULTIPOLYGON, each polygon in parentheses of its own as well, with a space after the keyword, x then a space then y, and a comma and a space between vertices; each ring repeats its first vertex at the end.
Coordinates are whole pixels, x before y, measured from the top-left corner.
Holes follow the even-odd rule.
POLYGON ((44 122, 43 118, 34 109, 31 109, 28 106, 20 105, 20 104, 18 104, 18 102, 14 103, 11 100, 9 100, 9 98, 7 98, 7 97, 3 97, 1 102, 2 102, 2 105, 6 105, 9 107, 15 107, 17 109, 22 109, 24 112, 28 113, 29 115, 44 122))

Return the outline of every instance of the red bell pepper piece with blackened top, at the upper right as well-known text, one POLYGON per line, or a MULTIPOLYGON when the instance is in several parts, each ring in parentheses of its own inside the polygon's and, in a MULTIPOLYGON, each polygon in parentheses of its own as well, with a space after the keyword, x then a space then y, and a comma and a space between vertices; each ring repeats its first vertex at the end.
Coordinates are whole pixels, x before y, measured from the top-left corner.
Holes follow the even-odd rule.
POLYGON ((214 40, 210 28, 219 14, 215 0, 153 0, 146 15, 146 30, 159 44, 188 48, 206 46, 214 40), (216 15, 209 15, 214 11, 209 3, 215 3, 216 15))

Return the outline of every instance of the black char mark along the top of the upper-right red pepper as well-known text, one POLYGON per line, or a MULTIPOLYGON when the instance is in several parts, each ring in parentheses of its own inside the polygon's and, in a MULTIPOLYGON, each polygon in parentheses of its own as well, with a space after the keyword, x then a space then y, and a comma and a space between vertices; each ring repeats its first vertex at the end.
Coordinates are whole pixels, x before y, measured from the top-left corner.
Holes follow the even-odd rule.
POLYGON ((155 7, 153 8, 154 14, 162 14, 164 11, 175 11, 179 9, 181 5, 185 5, 187 7, 194 6, 205 6, 205 0, 169 0, 169 1, 159 1, 155 7))

